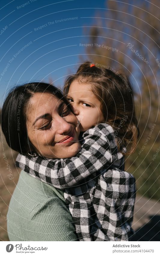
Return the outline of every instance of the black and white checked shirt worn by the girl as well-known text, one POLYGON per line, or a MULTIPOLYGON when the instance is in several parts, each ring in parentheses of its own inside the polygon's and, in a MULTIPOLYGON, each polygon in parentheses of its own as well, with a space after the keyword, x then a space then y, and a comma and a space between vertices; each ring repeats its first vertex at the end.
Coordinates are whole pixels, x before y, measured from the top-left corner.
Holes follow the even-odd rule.
POLYGON ((134 234, 135 179, 124 171, 114 136, 113 128, 101 123, 83 133, 81 151, 71 158, 17 156, 25 172, 64 189, 80 241, 128 241, 134 234))

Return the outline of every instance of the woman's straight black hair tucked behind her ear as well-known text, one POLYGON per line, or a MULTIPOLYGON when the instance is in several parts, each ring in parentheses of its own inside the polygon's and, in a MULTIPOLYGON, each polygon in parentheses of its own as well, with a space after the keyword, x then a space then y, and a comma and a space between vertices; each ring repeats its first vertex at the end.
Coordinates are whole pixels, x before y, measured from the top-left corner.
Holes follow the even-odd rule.
POLYGON ((26 110, 30 98, 35 93, 54 94, 56 98, 63 100, 68 105, 63 93, 52 84, 29 83, 10 91, 2 106, 2 131, 9 147, 22 154, 28 154, 28 151, 35 150, 29 141, 26 127, 26 110))

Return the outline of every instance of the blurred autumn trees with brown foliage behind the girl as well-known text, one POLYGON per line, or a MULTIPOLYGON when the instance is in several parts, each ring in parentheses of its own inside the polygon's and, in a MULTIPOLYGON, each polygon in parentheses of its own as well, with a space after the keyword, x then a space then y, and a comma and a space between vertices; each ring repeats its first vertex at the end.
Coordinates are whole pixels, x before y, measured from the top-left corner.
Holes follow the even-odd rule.
MULTIPOLYGON (((159 1, 134 1, 136 6, 123 2, 107 1, 108 10, 98 11, 92 27, 85 28, 88 43, 93 44, 86 47, 86 53, 93 63, 125 72, 131 80, 140 137, 136 152, 125 159, 125 170, 136 178, 137 193, 159 200, 160 153, 152 160, 160 146, 160 67, 156 62, 160 62, 159 1), (144 144, 153 124, 150 139, 144 144)), ((83 56, 80 59, 86 60, 83 56)))

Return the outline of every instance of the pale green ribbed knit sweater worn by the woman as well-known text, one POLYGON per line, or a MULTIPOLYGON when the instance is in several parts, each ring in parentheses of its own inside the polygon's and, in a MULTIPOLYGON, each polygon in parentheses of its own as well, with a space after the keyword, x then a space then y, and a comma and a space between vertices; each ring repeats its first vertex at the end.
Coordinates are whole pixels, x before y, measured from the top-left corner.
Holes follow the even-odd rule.
POLYGON ((63 191, 21 171, 7 214, 10 241, 76 241, 63 191))

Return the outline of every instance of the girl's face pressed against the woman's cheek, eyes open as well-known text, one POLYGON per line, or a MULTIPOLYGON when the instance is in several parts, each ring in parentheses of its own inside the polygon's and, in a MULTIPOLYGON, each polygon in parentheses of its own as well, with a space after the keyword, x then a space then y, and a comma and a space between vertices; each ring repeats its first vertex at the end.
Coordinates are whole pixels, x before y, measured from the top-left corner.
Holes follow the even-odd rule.
POLYGON ((80 122, 80 131, 86 131, 89 128, 104 122, 101 112, 101 102, 92 92, 90 83, 81 83, 74 80, 68 91, 68 100, 75 110, 75 115, 80 122))

